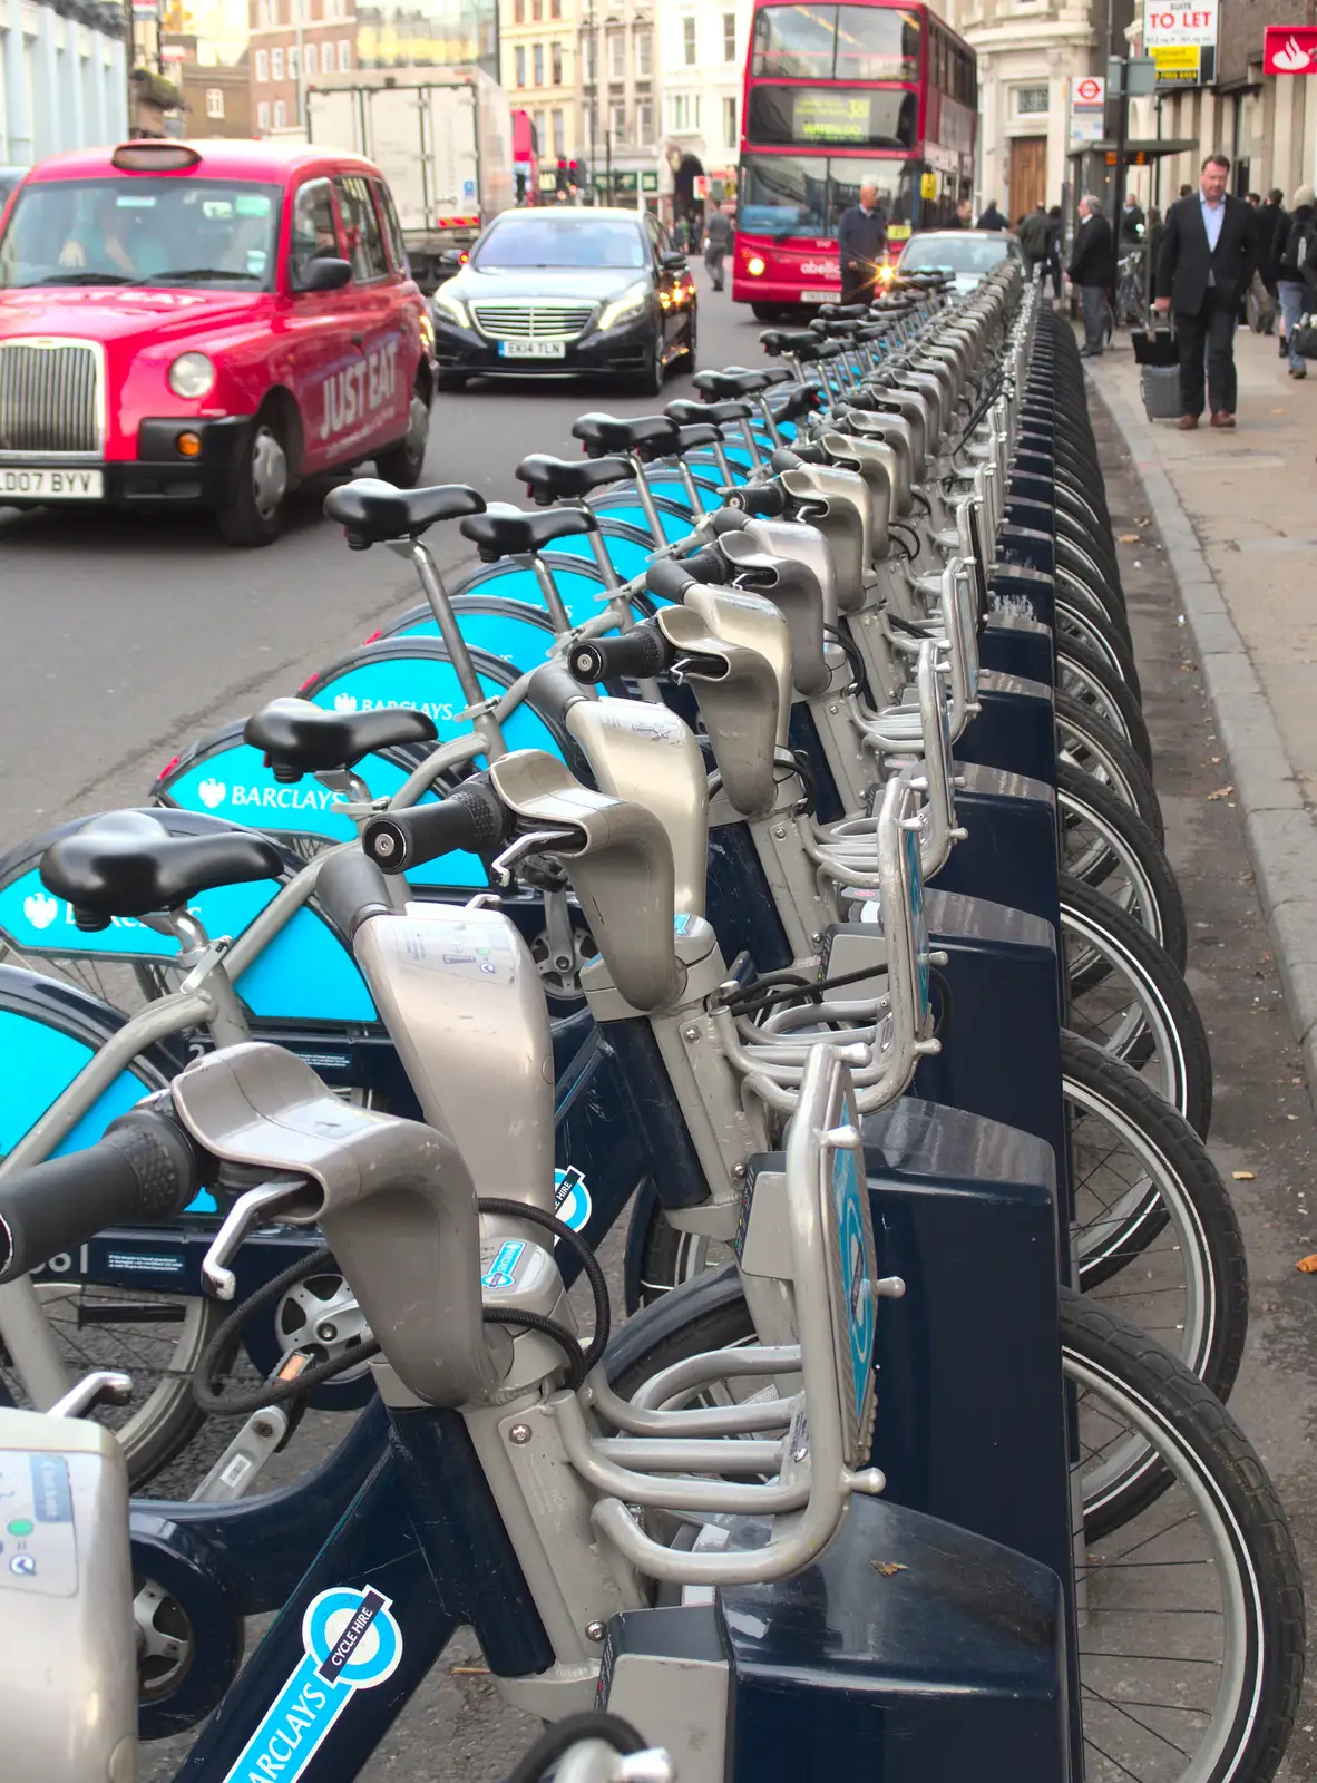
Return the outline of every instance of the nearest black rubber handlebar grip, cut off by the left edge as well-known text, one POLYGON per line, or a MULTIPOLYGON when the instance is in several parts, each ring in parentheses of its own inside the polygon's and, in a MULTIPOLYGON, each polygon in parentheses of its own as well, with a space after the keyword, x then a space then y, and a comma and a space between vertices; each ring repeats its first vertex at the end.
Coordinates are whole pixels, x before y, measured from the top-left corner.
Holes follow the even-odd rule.
POLYGON ((0 1180, 0 1282, 77 1250, 105 1227, 168 1225, 201 1189, 210 1159, 160 1109, 132 1109, 86 1152, 0 1180))

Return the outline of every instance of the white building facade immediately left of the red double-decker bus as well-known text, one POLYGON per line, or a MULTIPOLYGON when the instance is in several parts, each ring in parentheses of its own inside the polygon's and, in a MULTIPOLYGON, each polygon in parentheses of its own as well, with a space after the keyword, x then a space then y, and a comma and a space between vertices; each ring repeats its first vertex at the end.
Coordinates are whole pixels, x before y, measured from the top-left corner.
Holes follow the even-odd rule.
POLYGON ((750 0, 663 0, 659 189, 668 223, 736 196, 750 0))

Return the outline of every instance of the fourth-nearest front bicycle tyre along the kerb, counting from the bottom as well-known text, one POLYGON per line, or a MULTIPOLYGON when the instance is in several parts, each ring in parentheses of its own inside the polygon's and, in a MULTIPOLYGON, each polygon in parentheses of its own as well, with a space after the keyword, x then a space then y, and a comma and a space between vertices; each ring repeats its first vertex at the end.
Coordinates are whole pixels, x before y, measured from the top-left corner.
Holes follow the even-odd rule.
POLYGON ((1057 765, 1057 811, 1062 831, 1062 872, 1114 897, 1166 949, 1180 972, 1189 956, 1189 918, 1174 868, 1139 813, 1092 774, 1057 765), (1087 824, 1101 840, 1085 858, 1071 858, 1066 834, 1087 824), (1126 892, 1112 886, 1125 874, 1126 892))

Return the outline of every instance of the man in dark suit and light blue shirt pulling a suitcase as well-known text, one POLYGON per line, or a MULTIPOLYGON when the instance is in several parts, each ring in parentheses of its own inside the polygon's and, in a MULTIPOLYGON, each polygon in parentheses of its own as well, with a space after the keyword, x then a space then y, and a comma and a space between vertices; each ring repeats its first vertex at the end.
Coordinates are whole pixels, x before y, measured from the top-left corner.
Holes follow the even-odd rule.
POLYGON ((1180 342, 1180 426, 1203 414, 1203 358, 1212 426, 1235 426, 1235 321, 1256 267, 1256 221, 1242 198, 1226 193, 1230 160, 1208 155, 1198 191, 1178 198, 1166 218, 1157 255, 1157 303, 1174 312, 1180 342))

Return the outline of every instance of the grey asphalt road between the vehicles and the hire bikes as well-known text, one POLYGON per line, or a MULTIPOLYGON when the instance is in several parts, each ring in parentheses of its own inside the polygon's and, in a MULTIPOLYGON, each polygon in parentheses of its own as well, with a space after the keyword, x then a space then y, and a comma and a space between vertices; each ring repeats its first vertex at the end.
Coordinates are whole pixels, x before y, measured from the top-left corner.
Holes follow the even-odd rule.
MULTIPOLYGON (((759 325, 709 291, 702 267, 697 278, 702 364, 756 360, 759 325)), ((517 462, 577 453, 570 426, 586 408, 649 414, 695 394, 688 374, 658 399, 601 382, 487 380, 437 399, 426 480, 524 501, 517 462)), ((456 526, 431 540, 446 565, 470 555, 456 526)), ((0 845, 135 802, 180 744, 294 692, 417 599, 389 553, 346 549, 314 492, 264 551, 221 544, 205 515, 0 508, 0 845)))

